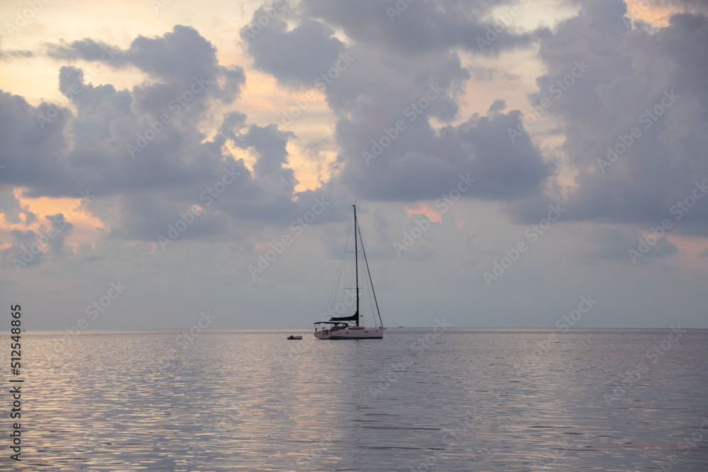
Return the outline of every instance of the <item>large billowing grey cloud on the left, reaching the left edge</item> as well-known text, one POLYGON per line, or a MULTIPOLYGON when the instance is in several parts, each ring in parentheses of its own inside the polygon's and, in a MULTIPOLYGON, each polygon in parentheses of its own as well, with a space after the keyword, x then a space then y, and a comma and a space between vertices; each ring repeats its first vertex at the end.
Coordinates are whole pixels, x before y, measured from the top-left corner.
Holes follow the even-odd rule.
MULTIPOLYGON (((177 25, 163 36, 141 36, 127 50, 91 38, 48 50, 59 62, 136 67, 151 79, 118 90, 94 84, 100 78, 96 68, 63 65, 59 90, 74 111, 54 103, 34 107, 0 93, 0 161, 6 165, 0 185, 26 188, 30 197, 77 197, 89 188, 96 200, 111 198, 118 205, 115 212, 92 204, 108 221, 105 234, 141 241, 158 241, 180 220, 190 221, 178 238, 245 235, 249 225, 289 223, 320 195, 295 193, 286 150, 292 132, 276 125, 247 127, 238 111, 224 117, 220 134, 202 132, 200 121, 215 100, 232 100, 245 76, 241 67, 220 65, 215 48, 193 28, 177 25), (229 154, 227 139, 257 156, 254 173, 229 154)), ((72 224, 59 216, 52 221, 72 224)), ((52 252, 64 246, 68 234, 62 235, 52 252)))

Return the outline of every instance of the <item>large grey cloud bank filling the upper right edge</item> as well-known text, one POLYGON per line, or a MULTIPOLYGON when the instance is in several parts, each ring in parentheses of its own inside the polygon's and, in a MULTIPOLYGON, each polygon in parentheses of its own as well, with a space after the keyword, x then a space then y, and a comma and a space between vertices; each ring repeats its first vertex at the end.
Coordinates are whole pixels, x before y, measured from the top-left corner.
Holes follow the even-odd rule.
MULTIPOLYGON (((664 28, 627 28, 622 1, 581 3, 542 41, 548 73, 531 97, 551 104, 546 113, 563 123, 563 150, 578 169, 567 219, 649 227, 668 218, 675 232, 708 234, 708 198, 697 198, 708 179, 708 18, 683 13, 664 28)), ((513 212, 528 221, 523 207, 513 212)))

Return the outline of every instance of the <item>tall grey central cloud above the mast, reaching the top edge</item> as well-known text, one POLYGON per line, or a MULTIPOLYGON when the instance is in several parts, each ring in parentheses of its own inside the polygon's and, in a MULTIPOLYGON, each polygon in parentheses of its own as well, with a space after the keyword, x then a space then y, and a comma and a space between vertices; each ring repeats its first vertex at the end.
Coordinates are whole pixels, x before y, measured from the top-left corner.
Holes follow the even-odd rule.
MULTIPOLYGON (((352 59, 323 89, 337 117, 336 140, 342 150, 338 156, 341 173, 328 188, 344 185, 354 195, 367 199, 435 200, 455 188, 460 175, 469 174, 476 184, 465 197, 511 200, 540 192, 554 168, 544 162, 527 134, 510 142, 507 129, 516 126, 518 112, 498 113, 500 110, 493 105, 489 116, 467 117, 455 127, 436 130, 430 124, 433 119, 445 123, 457 117, 457 98, 472 78, 452 50, 461 43, 459 38, 449 36, 450 31, 458 28, 471 34, 474 28, 482 28, 476 18, 489 13, 492 4, 438 3, 435 8, 430 2, 411 4, 404 12, 405 18, 401 16, 400 22, 396 18, 393 24, 386 6, 302 2, 302 17, 315 15, 331 27, 344 28, 355 40, 346 49, 331 37, 333 30, 329 27, 304 20, 288 32, 280 17, 270 20, 248 40, 254 63, 272 62, 272 67, 261 68, 291 83, 297 78, 312 86, 312 77, 329 67, 304 60, 294 65, 284 59, 293 57, 292 47, 302 47, 304 37, 308 54, 312 52, 330 61, 343 54, 352 59), (440 23, 434 26, 440 30, 430 30, 428 23, 418 23, 424 16, 426 21, 438 18, 442 22, 445 18, 451 23, 440 23), (421 29, 421 24, 426 26, 421 29), (394 32, 392 36, 386 33, 373 40, 375 30, 384 27, 394 32), (309 34, 300 33, 301 29, 309 34), (425 47, 411 45, 413 51, 406 46, 406 54, 401 57, 404 51, 397 43, 401 38, 413 38, 413 42, 421 41, 425 47), (307 72, 303 66, 307 66, 307 72)), ((261 16, 263 12, 256 12, 254 19, 261 16)), ((298 18, 292 12, 290 16, 298 18)), ((512 37, 507 36, 507 40, 512 37)), ((500 43, 504 44, 507 43, 500 43)), ((477 67, 473 72, 477 80, 487 81, 493 76, 493 69, 477 67)))

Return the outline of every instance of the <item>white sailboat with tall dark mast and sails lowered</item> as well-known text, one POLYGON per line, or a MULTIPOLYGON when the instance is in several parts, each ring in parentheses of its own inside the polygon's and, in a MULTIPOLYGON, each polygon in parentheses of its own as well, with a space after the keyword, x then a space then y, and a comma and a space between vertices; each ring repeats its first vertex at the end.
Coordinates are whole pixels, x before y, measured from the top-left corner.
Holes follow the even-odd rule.
MULTIPOLYGON (((356 205, 352 205, 354 208, 354 273, 355 273, 355 286, 353 290, 356 292, 356 308, 354 314, 351 316, 339 316, 329 318, 329 321, 317 321, 314 323, 314 336, 319 339, 381 339, 384 337, 384 323, 381 320, 381 313, 379 313, 379 304, 376 301, 376 294, 374 292, 374 285, 371 282, 371 272, 369 271, 369 263, 366 260, 366 252, 364 251, 364 244, 361 241, 361 231, 359 229, 359 221, 356 217, 356 205), (363 265, 366 269, 364 273, 364 279, 368 281, 371 288, 371 294, 373 297, 374 304, 372 305, 374 321, 378 318, 379 326, 366 327, 360 326, 360 318, 363 317, 360 314, 360 291, 362 287, 359 287, 359 246, 361 246, 361 253, 363 259, 363 265)), ((346 243, 345 243, 346 244, 346 243)), ((368 288, 368 287, 367 287, 368 288)), ((345 306, 345 305, 341 305, 345 306)))

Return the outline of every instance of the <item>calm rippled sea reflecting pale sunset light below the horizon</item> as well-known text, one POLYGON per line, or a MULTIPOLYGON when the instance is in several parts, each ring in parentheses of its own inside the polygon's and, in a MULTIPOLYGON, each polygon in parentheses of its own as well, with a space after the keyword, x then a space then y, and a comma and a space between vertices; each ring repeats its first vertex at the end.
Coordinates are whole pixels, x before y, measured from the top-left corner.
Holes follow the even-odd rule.
POLYGON ((3 433, 2 470, 708 470, 708 330, 22 340, 22 461, 3 433))

